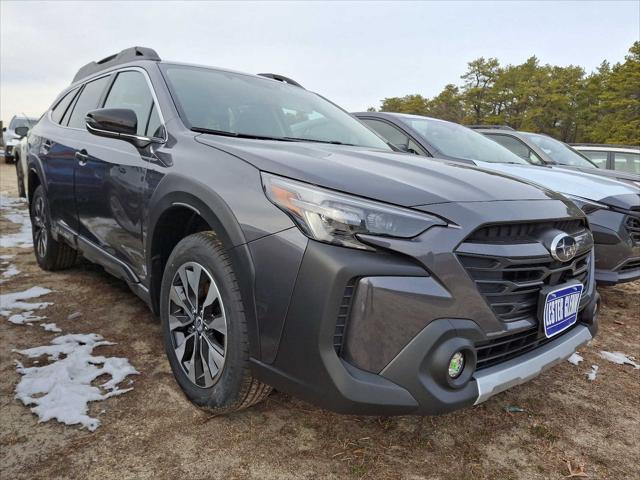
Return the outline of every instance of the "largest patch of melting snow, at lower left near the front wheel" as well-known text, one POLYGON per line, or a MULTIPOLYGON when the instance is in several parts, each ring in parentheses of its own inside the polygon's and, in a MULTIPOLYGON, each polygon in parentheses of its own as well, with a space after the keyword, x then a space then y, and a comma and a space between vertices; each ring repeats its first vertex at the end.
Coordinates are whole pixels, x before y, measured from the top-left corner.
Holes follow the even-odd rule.
POLYGON ((41 422, 55 419, 94 431, 100 426, 100 420, 87 415, 88 403, 132 390, 119 389, 118 384, 127 376, 139 373, 126 358, 93 356, 93 349, 103 345, 114 344, 95 333, 70 334, 54 338, 50 345, 19 351, 29 358, 47 355, 52 363, 24 367, 16 362, 17 371, 22 375, 16 386, 16 398, 25 405, 35 405, 31 411, 41 422), (65 357, 60 359, 60 355, 65 357), (91 385, 105 374, 111 376, 109 381, 100 387, 91 385))

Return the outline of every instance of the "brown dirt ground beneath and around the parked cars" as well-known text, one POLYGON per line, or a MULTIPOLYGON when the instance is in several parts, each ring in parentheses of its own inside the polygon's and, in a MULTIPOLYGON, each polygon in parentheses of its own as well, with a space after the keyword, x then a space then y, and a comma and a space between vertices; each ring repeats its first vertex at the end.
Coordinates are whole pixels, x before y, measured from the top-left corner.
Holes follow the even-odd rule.
MULTIPOLYGON (((15 170, 0 166, 0 190, 15 197, 15 170)), ((17 225, 0 220, 3 234, 17 225)), ((12 349, 56 335, 0 317, 0 477, 230 479, 560 479, 582 465, 588 478, 640 478, 640 370, 599 357, 640 358, 640 282, 603 288, 600 335, 568 362, 486 403, 440 417, 341 416, 273 393, 238 414, 211 417, 182 395, 160 328, 127 286, 88 263, 40 270, 30 249, 3 249, 21 274, 3 293, 55 292, 40 314, 65 333, 98 333, 141 372, 133 391, 91 404, 102 426, 89 432, 38 418, 14 398, 12 349), (74 312, 82 316, 69 320, 74 312), (595 381, 585 372, 599 365, 595 381), (509 413, 506 406, 525 411, 509 413)), ((2 267, 5 268, 5 267, 2 267)), ((28 364, 28 362, 27 362, 28 364)))

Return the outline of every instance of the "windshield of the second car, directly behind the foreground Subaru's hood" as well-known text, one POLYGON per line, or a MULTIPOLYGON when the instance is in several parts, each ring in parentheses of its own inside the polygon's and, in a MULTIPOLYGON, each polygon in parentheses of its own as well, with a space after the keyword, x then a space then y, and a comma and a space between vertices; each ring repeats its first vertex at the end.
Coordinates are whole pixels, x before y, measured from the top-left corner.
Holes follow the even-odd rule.
POLYGON ((439 152, 449 157, 527 165, 526 161, 502 145, 457 123, 413 117, 402 117, 402 121, 422 135, 439 152))

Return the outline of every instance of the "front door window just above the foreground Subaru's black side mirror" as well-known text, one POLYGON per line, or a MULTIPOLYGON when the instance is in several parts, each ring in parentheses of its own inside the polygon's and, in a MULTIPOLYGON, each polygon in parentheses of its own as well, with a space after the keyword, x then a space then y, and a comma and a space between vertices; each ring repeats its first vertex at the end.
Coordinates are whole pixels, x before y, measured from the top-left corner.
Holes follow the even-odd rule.
POLYGON ((119 73, 107 95, 104 108, 133 110, 138 117, 137 133, 146 136, 147 123, 153 108, 153 97, 144 74, 134 71, 119 73))

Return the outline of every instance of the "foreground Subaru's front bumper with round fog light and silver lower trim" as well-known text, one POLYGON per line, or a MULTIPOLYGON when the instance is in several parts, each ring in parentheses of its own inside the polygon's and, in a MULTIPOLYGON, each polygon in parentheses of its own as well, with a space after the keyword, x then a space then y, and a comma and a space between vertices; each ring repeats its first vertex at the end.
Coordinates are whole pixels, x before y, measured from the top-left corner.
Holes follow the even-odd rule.
MULTIPOLYGON (((467 208, 478 209, 475 215, 483 207, 467 208)), ((514 219, 522 215, 512 213, 514 219)), ((441 414, 530 379, 595 335, 599 299, 591 261, 573 328, 548 341, 536 340, 530 350, 497 365, 480 359, 487 344, 505 337, 517 342, 535 330, 537 320, 497 318, 454 253, 469 233, 433 228, 410 242, 386 239, 377 253, 309 241, 286 321, 278 330, 277 351, 265 356, 263 343, 263 358, 252 359, 254 374, 337 412, 441 414), (460 349, 469 353, 467 365, 485 362, 486 368, 470 370, 464 383, 452 383, 444 372, 451 354, 460 349)), ((548 256, 542 245, 511 247, 500 245, 523 258, 548 256)), ((261 324, 261 337, 265 331, 273 344, 267 322, 261 324)))

